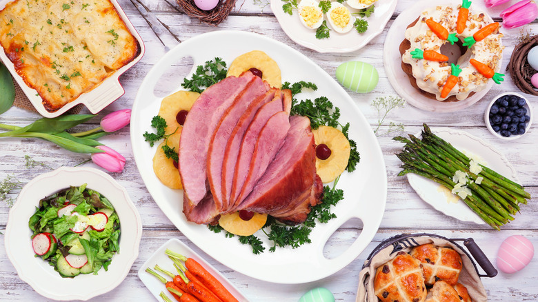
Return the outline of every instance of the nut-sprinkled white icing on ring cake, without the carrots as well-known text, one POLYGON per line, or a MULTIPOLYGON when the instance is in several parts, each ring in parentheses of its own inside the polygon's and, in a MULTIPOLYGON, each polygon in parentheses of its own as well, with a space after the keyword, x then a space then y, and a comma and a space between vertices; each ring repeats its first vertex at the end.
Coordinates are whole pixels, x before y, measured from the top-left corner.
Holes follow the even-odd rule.
MULTIPOLYGON (((459 12, 459 6, 437 6, 430 8, 421 13, 419 21, 415 26, 406 30, 406 39, 411 43, 411 48, 406 50, 402 56, 402 61, 412 66, 413 77, 417 79, 417 85, 421 90, 435 94, 437 100, 442 101, 441 90, 450 76, 450 64, 446 62, 434 62, 424 59, 413 59, 410 52, 419 48, 421 50, 434 50, 440 52, 444 43, 449 43, 439 39, 433 33, 426 20, 432 18, 433 21, 440 23, 448 32, 456 32, 456 21, 459 12)), ((484 26, 493 23, 491 17, 484 12, 469 12, 467 27, 461 34, 456 33, 456 37, 463 41, 466 37, 472 37, 475 32, 484 26)), ((503 34, 495 30, 488 35, 486 39, 478 41, 470 47, 468 52, 462 55, 457 64, 462 69, 459 74, 458 83, 452 88, 448 97, 455 95, 458 100, 466 99, 471 92, 479 92, 486 88, 488 79, 480 74, 469 63, 469 59, 474 58, 493 70, 498 72, 501 68, 502 51, 504 46, 501 43, 503 34)), ((448 98, 447 97, 447 98, 448 98)))

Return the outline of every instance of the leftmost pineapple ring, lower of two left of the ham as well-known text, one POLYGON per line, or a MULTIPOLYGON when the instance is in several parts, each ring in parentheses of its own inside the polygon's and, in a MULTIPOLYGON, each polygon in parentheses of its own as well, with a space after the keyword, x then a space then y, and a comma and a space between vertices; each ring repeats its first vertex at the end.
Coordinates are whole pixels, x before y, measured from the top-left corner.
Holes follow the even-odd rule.
POLYGON ((164 154, 162 146, 166 143, 170 148, 179 149, 179 138, 181 137, 181 130, 178 130, 175 134, 168 137, 168 141, 163 142, 157 148, 155 156, 153 157, 153 171, 157 178, 170 189, 183 189, 181 185, 181 177, 179 177, 179 170, 174 166, 174 160, 169 159, 164 154))

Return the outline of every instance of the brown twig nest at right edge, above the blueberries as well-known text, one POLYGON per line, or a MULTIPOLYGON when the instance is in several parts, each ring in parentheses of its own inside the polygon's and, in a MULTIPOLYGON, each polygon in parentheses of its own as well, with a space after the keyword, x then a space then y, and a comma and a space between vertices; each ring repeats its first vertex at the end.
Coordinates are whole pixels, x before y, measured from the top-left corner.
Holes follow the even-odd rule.
POLYGON ((530 77, 537 73, 537 70, 532 68, 527 61, 527 55, 531 48, 538 46, 538 35, 528 37, 523 42, 519 43, 512 52, 510 63, 506 68, 510 72, 515 85, 522 92, 538 95, 538 91, 530 83, 530 77))

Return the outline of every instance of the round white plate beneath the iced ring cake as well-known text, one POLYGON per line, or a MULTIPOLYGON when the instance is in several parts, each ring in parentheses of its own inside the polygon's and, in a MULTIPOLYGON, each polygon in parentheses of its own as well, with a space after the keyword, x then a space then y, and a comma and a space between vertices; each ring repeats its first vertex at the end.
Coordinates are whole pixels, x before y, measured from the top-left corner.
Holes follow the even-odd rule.
MULTIPOLYGON (((477 10, 485 11, 484 3, 478 2, 479 1, 474 1, 472 6, 475 6, 475 8, 478 6, 477 10)), ((409 76, 401 69, 399 46, 401 41, 405 39, 407 26, 419 17, 424 8, 451 4, 454 4, 453 1, 447 0, 421 0, 413 3, 412 6, 403 10, 395 21, 392 22, 392 26, 390 26, 385 39, 385 46, 383 47, 383 66, 385 66, 390 85, 392 85, 392 88, 396 90, 400 97, 421 110, 431 112, 455 112, 468 108, 470 105, 484 97, 494 85, 493 81, 489 81, 484 90, 476 92, 471 97, 461 101, 437 101, 425 97, 419 90, 414 88, 409 81, 409 76)))

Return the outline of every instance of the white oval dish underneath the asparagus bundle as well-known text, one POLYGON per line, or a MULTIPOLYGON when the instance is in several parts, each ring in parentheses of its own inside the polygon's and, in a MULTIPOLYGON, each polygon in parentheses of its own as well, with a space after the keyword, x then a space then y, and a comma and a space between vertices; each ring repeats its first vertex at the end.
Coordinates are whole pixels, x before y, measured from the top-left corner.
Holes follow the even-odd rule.
MULTIPOLYGON (((508 159, 492 147, 492 145, 474 137, 464 131, 459 130, 432 130, 437 136, 451 143, 455 148, 464 152, 468 156, 477 156, 480 163, 495 170, 504 177, 519 182, 515 168, 508 162, 508 159)), ((416 135, 420 137, 420 133, 416 135)), ((485 222, 473 212, 457 195, 444 188, 439 183, 421 177, 417 174, 406 174, 409 184, 419 194, 419 197, 432 205, 435 210, 461 221, 471 221, 477 224, 485 222)))

